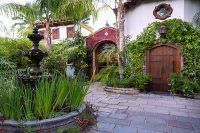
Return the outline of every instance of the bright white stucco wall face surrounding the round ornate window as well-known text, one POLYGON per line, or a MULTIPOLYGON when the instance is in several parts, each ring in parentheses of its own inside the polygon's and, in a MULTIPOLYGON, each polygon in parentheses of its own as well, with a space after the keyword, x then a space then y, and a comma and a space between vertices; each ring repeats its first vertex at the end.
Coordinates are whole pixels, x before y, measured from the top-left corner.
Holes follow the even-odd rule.
POLYGON ((148 2, 138 3, 126 12, 125 35, 130 35, 132 39, 135 39, 149 23, 161 21, 155 19, 153 15, 155 6, 161 3, 170 4, 173 8, 173 13, 168 19, 180 18, 184 20, 184 0, 148 0, 148 2))

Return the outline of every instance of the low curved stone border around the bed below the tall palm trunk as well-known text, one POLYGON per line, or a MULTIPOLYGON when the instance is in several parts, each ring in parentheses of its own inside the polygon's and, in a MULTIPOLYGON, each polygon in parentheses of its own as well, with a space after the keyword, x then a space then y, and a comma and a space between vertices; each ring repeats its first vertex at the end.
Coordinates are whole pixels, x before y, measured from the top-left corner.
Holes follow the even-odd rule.
POLYGON ((139 93, 139 90, 135 89, 135 88, 114 88, 114 87, 106 86, 104 88, 104 90, 107 91, 107 92, 113 92, 113 93, 119 93, 119 94, 129 94, 129 95, 139 93))

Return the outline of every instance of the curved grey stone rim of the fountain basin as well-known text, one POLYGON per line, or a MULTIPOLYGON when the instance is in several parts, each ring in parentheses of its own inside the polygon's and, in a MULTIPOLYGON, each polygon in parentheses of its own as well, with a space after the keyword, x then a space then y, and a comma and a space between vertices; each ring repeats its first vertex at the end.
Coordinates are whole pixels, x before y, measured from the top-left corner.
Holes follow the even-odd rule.
POLYGON ((70 125, 75 123, 74 118, 78 116, 86 108, 85 103, 73 112, 70 112, 66 115, 44 119, 44 120, 35 120, 27 122, 19 122, 14 120, 5 120, 3 121, 3 131, 5 133, 21 133, 23 130, 28 130, 31 132, 42 131, 44 133, 51 132, 57 133, 59 129, 67 129, 70 125))

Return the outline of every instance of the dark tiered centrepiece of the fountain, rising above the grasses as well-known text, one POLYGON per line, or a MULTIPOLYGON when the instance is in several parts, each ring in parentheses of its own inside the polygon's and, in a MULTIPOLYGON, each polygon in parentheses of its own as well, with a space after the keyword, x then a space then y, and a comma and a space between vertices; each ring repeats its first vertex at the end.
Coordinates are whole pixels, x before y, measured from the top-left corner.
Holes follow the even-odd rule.
POLYGON ((41 77, 40 62, 47 56, 47 53, 39 49, 39 42, 44 37, 38 33, 37 27, 34 27, 33 33, 29 34, 28 38, 33 42, 32 49, 25 52, 23 55, 31 60, 30 72, 19 75, 18 79, 23 83, 34 86, 35 82, 41 77))

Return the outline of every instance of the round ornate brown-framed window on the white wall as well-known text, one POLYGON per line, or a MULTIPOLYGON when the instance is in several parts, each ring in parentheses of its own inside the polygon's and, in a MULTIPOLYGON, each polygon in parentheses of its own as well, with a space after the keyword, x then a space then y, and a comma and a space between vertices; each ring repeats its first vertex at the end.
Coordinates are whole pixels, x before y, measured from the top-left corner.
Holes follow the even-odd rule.
POLYGON ((164 20, 171 16, 173 12, 170 4, 162 3, 155 7, 153 10, 153 15, 156 19, 164 20))

